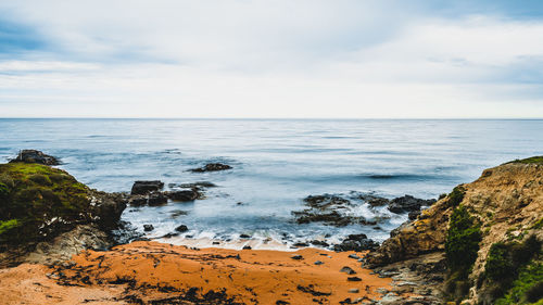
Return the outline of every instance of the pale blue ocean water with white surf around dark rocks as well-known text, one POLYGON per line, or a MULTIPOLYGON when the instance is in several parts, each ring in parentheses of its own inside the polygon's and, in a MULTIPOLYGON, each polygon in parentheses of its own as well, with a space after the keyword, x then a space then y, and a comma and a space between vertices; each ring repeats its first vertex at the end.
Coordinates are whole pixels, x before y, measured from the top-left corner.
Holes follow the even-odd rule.
MULTIPOLYGON (((128 207, 123 219, 168 242, 266 239, 282 244, 366 233, 382 241, 407 219, 364 202, 351 213, 379 226, 299 225, 292 211, 316 194, 372 193, 432 199, 484 168, 543 154, 543 120, 433 119, 0 119, 0 158, 37 149, 98 190, 129 191, 135 180, 210 181, 204 200, 128 207), (191 173, 211 162, 231 170, 191 173), (184 215, 186 214, 186 215, 184 215)), ((231 243, 228 246, 241 246, 231 243)))

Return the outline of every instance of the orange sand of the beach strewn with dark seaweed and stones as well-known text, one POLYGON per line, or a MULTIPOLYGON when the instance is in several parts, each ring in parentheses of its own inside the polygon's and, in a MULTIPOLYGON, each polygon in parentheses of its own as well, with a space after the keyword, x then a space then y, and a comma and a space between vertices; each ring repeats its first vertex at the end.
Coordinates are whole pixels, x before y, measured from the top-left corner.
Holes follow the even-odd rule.
POLYGON ((108 252, 81 252, 64 266, 24 264, 0 270, 0 304, 340 304, 380 298, 377 290, 390 289, 391 279, 371 275, 350 254, 355 253, 132 242, 108 252), (340 271, 343 267, 356 274, 340 271))

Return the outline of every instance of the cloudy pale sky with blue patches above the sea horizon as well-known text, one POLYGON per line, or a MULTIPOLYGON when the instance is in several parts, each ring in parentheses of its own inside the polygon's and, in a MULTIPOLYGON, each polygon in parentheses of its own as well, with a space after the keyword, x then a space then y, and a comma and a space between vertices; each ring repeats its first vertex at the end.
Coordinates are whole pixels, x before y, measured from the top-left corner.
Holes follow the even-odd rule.
POLYGON ((543 118, 543 1, 0 0, 0 117, 543 118))

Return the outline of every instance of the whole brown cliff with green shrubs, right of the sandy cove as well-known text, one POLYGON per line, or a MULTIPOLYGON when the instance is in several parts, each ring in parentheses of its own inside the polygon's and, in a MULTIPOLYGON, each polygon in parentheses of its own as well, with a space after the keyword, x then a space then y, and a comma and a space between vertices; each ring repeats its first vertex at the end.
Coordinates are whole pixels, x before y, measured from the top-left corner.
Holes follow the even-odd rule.
POLYGON ((489 168, 456 187, 394 230, 366 262, 374 268, 401 266, 431 253, 446 265, 444 283, 433 284, 444 300, 541 303, 542 228, 543 157, 532 157, 489 168))

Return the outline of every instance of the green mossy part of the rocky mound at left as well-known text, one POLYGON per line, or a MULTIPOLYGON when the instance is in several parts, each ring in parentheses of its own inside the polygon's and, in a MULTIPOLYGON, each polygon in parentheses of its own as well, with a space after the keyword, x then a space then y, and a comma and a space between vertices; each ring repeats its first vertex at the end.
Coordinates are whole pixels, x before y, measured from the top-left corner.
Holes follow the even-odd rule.
POLYGON ((90 219, 89 188, 40 164, 0 164, 0 241, 40 240, 90 219))

